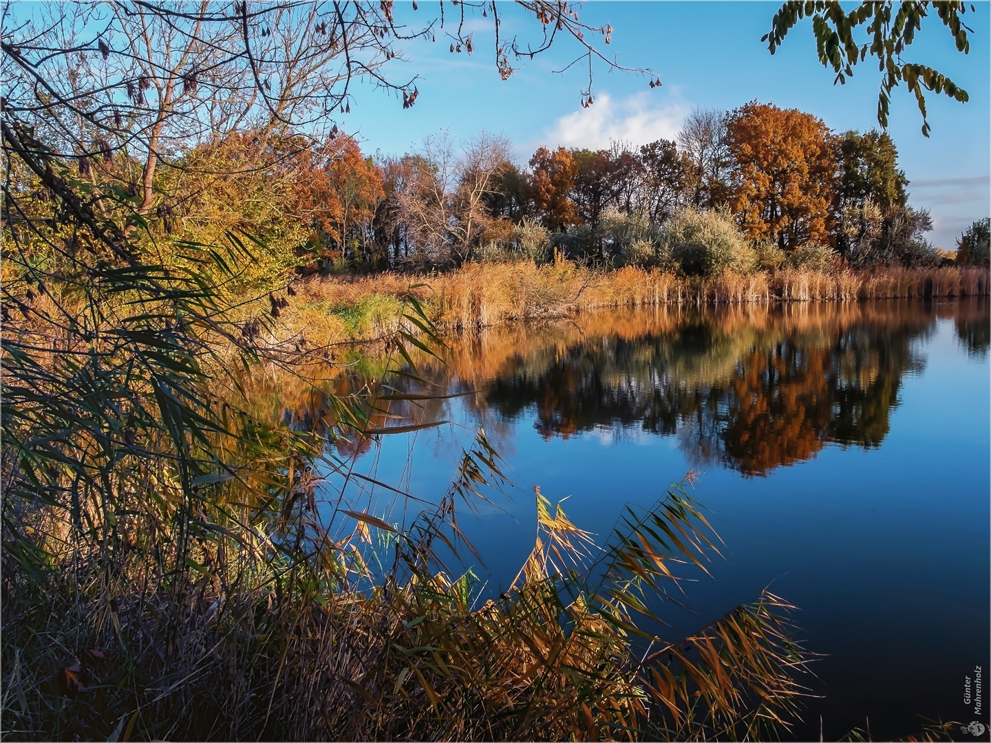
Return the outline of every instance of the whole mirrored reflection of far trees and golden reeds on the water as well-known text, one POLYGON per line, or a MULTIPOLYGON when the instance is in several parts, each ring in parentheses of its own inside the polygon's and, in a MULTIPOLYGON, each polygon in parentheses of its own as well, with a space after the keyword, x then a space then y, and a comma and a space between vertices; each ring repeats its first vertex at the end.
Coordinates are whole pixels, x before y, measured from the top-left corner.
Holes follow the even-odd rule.
MULTIPOLYGON (((922 367, 917 341, 940 317, 954 320, 968 353, 987 354, 988 305, 977 300, 661 307, 500 328, 449 339, 443 365, 417 360, 419 373, 439 385, 430 388, 474 394, 391 401, 374 425, 458 413, 485 425, 496 444, 530 418, 545 439, 644 432, 676 437, 697 465, 762 476, 809 460, 828 443, 880 446, 905 375, 922 367)), ((374 379, 384 371, 364 372, 374 379)), ((348 392, 364 382, 352 369, 336 383, 348 392)), ((333 411, 326 395, 307 394, 293 404, 281 397, 293 423, 310 428, 333 411)), ((351 456, 369 444, 357 434, 335 443, 351 456)))

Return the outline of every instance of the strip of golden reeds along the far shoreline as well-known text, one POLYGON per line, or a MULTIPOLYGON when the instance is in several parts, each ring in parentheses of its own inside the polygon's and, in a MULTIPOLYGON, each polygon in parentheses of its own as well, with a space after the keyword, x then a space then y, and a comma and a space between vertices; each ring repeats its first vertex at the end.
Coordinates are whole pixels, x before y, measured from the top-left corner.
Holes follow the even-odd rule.
MULTIPOLYGON (((769 302, 853 301, 867 299, 986 296, 987 268, 841 269, 824 273, 787 268, 773 273, 686 277, 657 269, 626 266, 595 270, 566 261, 536 266, 468 264, 445 272, 409 275, 313 278, 280 319, 285 337, 305 336, 322 346, 380 338, 400 321, 395 309, 373 313, 363 327, 350 328, 328 306, 359 305, 371 297, 415 296, 441 331, 491 327, 512 320, 570 317, 600 307, 722 305, 769 302)), ((391 304, 396 307, 396 304, 391 304)), ((276 335, 279 331, 275 331, 276 335)))

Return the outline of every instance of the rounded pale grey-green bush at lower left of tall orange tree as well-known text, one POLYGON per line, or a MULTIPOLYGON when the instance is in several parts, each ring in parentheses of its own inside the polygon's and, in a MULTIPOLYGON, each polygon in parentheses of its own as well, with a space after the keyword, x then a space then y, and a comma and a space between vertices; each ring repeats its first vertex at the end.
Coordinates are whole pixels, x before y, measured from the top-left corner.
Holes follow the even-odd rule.
POLYGON ((712 275, 725 269, 751 273, 757 252, 744 238, 728 209, 683 209, 661 229, 659 254, 670 255, 686 275, 712 275))

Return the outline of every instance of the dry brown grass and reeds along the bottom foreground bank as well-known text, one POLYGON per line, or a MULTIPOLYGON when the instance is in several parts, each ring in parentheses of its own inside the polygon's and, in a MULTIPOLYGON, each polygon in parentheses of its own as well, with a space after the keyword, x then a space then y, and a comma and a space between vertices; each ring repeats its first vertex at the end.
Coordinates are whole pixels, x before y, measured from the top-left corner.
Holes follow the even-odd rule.
POLYGON ((57 570, 27 581, 5 565, 4 738, 705 739, 763 737, 791 716, 806 656, 783 633, 792 607, 773 595, 658 638, 645 659, 632 651, 624 627, 641 612, 628 606, 686 557, 644 524, 687 535, 693 559, 713 539, 683 489, 616 532, 598 588, 562 589, 570 569, 591 567, 588 535, 539 495, 534 550, 501 598, 478 605, 468 580, 437 572, 430 544, 457 488, 493 456, 483 440, 439 506, 401 534, 370 519, 330 539, 313 480, 300 485, 310 505, 277 502, 273 520, 246 505, 234 520, 207 513, 227 536, 198 539, 185 560, 199 570, 177 577, 159 567, 175 558, 167 519, 154 530, 129 519, 128 548, 113 554, 63 516, 36 514, 57 570), (253 520, 268 526, 238 525, 253 520), (377 579, 377 561, 393 556, 377 579))

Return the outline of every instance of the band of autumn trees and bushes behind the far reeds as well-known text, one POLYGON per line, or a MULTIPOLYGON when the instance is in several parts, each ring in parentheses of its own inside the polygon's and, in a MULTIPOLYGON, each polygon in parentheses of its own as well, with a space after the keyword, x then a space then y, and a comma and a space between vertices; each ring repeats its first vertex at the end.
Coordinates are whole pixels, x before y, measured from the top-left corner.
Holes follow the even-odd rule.
MULTIPOLYGON (((456 151, 436 137, 373 159, 336 127, 322 142, 231 134, 170 162, 161 190, 172 195, 154 216, 183 240, 211 243, 232 227, 263 238, 256 274, 539 264, 555 252, 686 274, 988 264, 987 219, 956 252, 926 240, 932 220, 909 205, 887 134, 836 134, 798 110, 697 110, 677 141, 542 147, 522 169, 510 147, 483 133, 456 151)), ((98 166, 129 182, 126 159, 98 166)), ((96 167, 79 161, 84 175, 96 167)))

